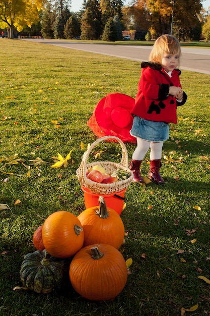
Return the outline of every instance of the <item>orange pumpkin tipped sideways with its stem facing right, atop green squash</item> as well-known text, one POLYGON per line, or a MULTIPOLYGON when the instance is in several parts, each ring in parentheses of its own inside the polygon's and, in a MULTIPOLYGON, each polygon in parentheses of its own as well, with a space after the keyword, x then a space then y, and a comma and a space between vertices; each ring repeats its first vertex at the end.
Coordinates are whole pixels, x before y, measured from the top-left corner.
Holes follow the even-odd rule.
POLYGON ((60 210, 44 222, 42 239, 45 249, 56 258, 73 256, 81 249, 84 232, 79 219, 72 213, 60 210))

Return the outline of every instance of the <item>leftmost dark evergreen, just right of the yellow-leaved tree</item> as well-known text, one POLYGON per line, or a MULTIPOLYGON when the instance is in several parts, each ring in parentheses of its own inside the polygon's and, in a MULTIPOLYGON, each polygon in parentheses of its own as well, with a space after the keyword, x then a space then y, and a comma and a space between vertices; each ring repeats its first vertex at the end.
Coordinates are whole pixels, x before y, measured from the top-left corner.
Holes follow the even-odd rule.
POLYGON ((54 38, 53 24, 55 18, 56 13, 52 11, 51 1, 48 1, 41 18, 41 32, 45 38, 54 38))

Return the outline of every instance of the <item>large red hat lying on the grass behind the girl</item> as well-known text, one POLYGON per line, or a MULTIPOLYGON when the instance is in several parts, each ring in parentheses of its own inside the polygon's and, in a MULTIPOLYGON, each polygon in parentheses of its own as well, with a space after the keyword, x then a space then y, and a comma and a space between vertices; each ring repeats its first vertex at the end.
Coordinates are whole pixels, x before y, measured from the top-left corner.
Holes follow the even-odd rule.
POLYGON ((98 102, 87 124, 99 138, 110 135, 123 142, 136 143, 136 138, 130 135, 134 102, 129 95, 109 93, 98 102))

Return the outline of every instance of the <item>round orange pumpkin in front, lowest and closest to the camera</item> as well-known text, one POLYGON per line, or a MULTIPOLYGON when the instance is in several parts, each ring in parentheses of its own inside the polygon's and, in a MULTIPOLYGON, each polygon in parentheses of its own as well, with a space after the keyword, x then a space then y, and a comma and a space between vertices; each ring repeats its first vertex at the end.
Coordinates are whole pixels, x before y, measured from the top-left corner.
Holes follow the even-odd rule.
POLYGON ((115 298, 127 282, 127 268, 122 254, 113 246, 86 246, 73 257, 69 278, 81 296, 96 301, 115 298))

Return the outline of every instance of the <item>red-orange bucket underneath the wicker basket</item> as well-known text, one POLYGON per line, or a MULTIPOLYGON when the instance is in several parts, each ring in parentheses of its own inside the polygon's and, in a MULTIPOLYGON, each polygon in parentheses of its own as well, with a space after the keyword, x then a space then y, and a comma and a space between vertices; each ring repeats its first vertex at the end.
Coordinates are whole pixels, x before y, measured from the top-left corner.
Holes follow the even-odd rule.
POLYGON ((110 207, 116 210, 116 212, 119 215, 121 214, 123 204, 124 204, 124 199, 125 199, 125 191, 127 190, 127 188, 120 192, 113 192, 111 194, 105 194, 105 195, 92 193, 90 190, 88 190, 84 186, 82 186, 81 188, 84 192, 86 208, 98 206, 99 205, 98 198, 101 195, 104 197, 107 207, 110 207))

